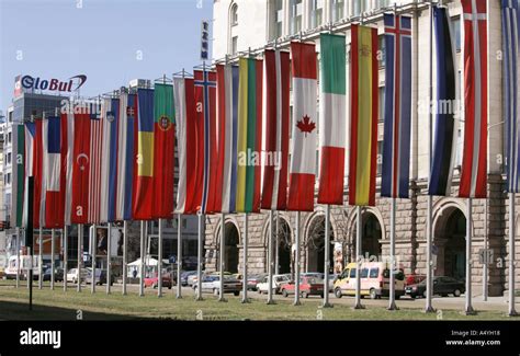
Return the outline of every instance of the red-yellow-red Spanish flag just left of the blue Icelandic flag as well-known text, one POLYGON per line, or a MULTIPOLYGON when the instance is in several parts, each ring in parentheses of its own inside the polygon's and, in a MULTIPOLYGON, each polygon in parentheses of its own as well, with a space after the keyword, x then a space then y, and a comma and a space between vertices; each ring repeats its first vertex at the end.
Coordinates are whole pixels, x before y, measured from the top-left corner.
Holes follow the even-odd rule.
POLYGON ((349 204, 375 205, 377 156, 377 28, 351 27, 349 204))

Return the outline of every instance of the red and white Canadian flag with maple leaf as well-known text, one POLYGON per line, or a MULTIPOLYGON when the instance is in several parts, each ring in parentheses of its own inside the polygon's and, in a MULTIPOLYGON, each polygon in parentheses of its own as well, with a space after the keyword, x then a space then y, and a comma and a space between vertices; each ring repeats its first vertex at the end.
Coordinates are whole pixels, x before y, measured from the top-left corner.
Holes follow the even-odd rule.
POLYGON ((313 211, 316 181, 316 48, 314 44, 293 42, 291 53, 294 122, 287 210, 313 211))

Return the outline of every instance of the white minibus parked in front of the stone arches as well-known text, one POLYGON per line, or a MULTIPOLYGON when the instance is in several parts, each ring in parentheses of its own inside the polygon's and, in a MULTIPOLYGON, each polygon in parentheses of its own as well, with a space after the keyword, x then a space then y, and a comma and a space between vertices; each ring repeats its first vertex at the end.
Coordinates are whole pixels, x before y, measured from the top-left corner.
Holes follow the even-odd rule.
MULTIPOLYGON (((334 292, 336 297, 355 295, 357 287, 357 263, 349 263, 341 275, 336 280, 334 292)), ((378 299, 389 295, 391 271, 384 262, 368 262, 361 264, 361 297, 370 296, 371 299, 378 299)), ((395 298, 399 299, 405 294, 405 274, 403 269, 395 273, 395 298)))

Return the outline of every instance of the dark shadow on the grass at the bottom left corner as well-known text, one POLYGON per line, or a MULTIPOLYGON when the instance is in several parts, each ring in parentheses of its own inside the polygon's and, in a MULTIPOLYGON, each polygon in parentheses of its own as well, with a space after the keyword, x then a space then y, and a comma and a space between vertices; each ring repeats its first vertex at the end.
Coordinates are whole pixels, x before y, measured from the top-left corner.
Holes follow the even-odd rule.
POLYGON ((4 301, 0 302, 0 320, 9 321, 26 321, 26 320, 45 320, 45 321, 66 321, 78 320, 81 314, 82 320, 149 320, 149 318, 129 317, 123 314, 111 314, 94 312, 88 310, 77 310, 70 308, 58 308, 42 305, 33 305, 33 310, 29 310, 29 303, 4 301))

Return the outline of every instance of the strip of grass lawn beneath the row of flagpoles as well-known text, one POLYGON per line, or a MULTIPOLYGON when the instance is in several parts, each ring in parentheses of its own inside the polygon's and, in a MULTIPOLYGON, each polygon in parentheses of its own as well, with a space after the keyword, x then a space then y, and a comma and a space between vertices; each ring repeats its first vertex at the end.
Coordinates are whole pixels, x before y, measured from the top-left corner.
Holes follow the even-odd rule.
POLYGON ((55 290, 35 287, 33 289, 33 311, 29 311, 29 291, 25 284, 16 289, 2 284, 0 286, 0 320, 76 320, 81 311, 83 320, 510 320, 501 311, 481 311, 477 315, 466 317, 459 310, 442 310, 441 314, 426 314, 417 309, 387 311, 383 307, 368 307, 352 310, 348 306, 335 305, 331 309, 321 309, 320 299, 302 300, 294 307, 290 300, 276 300, 273 306, 253 299, 250 303, 240 303, 239 297, 226 295, 228 302, 218 302, 214 296, 204 295, 203 301, 192 296, 176 299, 171 290, 157 298, 151 290, 145 297, 135 292, 122 296, 120 292, 106 295, 104 286, 95 295, 90 288, 78 294, 75 288, 64 292, 61 285, 55 290))

